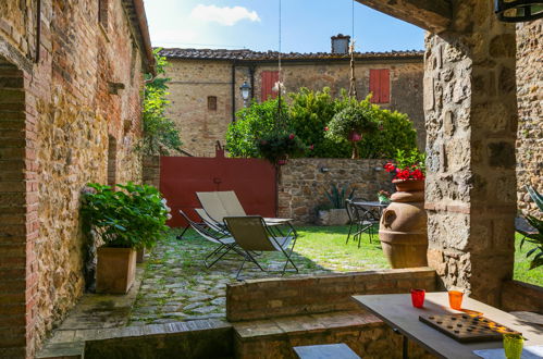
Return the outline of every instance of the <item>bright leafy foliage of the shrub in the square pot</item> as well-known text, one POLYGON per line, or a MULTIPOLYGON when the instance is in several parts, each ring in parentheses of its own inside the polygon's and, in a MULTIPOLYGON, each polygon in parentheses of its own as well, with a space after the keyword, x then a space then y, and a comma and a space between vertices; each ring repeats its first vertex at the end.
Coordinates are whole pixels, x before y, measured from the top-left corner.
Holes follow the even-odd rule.
POLYGON ((165 200, 152 186, 91 183, 83 195, 82 215, 84 231, 96 231, 108 247, 150 248, 163 236, 170 216, 165 200))

